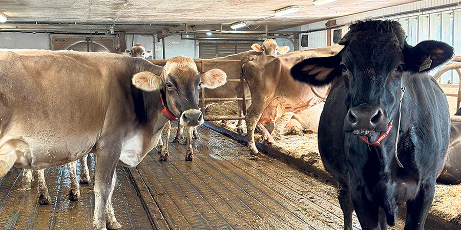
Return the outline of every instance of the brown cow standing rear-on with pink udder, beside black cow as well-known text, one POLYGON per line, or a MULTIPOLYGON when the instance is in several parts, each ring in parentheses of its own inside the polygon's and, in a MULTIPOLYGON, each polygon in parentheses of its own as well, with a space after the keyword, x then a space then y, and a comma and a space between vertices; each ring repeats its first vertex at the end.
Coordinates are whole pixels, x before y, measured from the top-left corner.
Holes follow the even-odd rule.
MULTIPOLYGON (((259 155, 254 140, 256 127, 263 141, 273 142, 264 128, 265 122, 274 122, 282 112, 300 113, 323 101, 312 93, 309 85, 291 77, 291 66, 305 58, 332 56, 341 49, 342 46, 314 48, 277 57, 249 55, 242 60, 243 77, 252 94, 252 105, 245 118, 250 154, 259 155)), ((325 94, 327 87, 318 88, 318 91, 325 94)))

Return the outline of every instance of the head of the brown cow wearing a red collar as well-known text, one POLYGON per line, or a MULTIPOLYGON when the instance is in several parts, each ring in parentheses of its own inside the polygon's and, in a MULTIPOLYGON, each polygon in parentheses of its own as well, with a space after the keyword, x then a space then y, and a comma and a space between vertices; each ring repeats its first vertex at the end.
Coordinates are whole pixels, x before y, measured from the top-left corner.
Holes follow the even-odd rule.
POLYGON ((196 126, 203 123, 198 108, 200 88, 216 88, 226 83, 226 74, 214 68, 203 74, 192 58, 170 58, 160 76, 141 72, 133 76, 133 85, 145 91, 165 91, 168 109, 179 118, 179 124, 196 126))

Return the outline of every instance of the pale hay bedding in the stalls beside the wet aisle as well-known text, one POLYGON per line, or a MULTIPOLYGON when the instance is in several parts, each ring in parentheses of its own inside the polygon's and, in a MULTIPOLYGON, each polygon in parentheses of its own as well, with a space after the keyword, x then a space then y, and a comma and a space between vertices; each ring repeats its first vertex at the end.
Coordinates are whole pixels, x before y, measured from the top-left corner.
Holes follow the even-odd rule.
MULTIPOLYGON (((456 110, 456 98, 448 98, 450 112, 456 110)), ((223 104, 214 104, 206 111, 207 115, 213 116, 236 116, 238 114, 237 102, 223 104)), ((215 125, 222 126, 228 130, 236 132, 237 121, 214 121, 215 125)), ((244 130, 246 126, 244 124, 244 130)), ((246 132, 243 133, 246 135, 246 132)), ((256 133, 255 140, 261 142, 261 135, 256 133)), ((305 133, 304 136, 287 135, 279 136, 271 147, 315 166, 318 169, 325 170, 319 155, 317 145, 317 133, 305 133)), ((455 222, 461 225, 461 185, 448 186, 437 184, 434 201, 430 210, 432 215, 444 220, 455 222)))

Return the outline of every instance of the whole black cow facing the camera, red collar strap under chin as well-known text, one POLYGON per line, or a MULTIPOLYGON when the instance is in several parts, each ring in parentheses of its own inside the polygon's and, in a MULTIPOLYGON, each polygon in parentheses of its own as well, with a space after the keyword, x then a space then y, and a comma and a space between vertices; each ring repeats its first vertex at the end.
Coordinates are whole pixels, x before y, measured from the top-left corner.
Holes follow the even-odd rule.
POLYGON ((355 209, 363 229, 387 229, 406 202, 405 229, 424 229, 450 135, 447 99, 426 72, 453 48, 439 41, 411 47, 400 24, 388 20, 359 21, 339 43, 338 55, 306 59, 291 75, 332 82, 318 140, 325 169, 339 181, 344 228, 352 229, 355 209))

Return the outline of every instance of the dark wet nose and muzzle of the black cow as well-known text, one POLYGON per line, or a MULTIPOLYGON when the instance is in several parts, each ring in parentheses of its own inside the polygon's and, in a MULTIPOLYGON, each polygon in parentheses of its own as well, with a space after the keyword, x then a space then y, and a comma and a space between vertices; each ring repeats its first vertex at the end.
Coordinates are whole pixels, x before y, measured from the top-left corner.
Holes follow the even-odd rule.
POLYGON ((380 107, 359 105, 350 108, 346 115, 345 131, 354 131, 357 135, 368 135, 380 131, 385 125, 384 113, 380 107))

